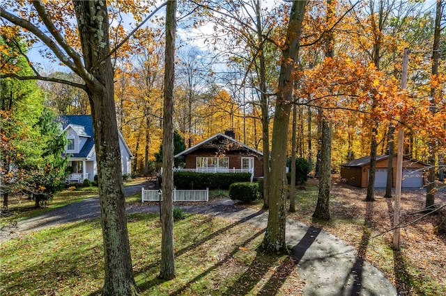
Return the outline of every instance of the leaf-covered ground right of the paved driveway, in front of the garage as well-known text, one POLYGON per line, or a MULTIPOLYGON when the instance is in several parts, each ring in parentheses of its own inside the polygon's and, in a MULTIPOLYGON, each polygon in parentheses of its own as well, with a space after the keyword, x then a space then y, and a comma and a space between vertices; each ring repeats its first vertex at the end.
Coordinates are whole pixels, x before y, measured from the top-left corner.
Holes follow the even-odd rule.
MULTIPOLYGON (((296 213, 289 217, 321 227, 348 244, 357 254, 385 272, 401 295, 446 295, 446 236, 434 231, 438 215, 423 217, 401 229, 401 249, 392 249, 393 199, 384 198, 385 190, 376 190, 375 202, 364 202, 367 188, 348 186, 334 178, 330 197, 330 222, 314 222, 317 180, 309 180, 299 189, 296 213)), ((404 190, 401 194, 401 224, 421 217, 425 190, 404 190)), ((445 190, 436 193, 436 204, 446 204, 445 190)))

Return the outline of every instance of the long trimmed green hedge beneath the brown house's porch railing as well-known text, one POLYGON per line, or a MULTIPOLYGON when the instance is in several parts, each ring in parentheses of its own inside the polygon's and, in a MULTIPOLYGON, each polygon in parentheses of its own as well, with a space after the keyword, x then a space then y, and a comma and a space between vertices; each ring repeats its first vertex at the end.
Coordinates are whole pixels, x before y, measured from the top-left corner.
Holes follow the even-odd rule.
POLYGON ((232 183, 248 182, 249 173, 199 173, 174 172, 174 186, 178 189, 222 189, 227 190, 232 183))

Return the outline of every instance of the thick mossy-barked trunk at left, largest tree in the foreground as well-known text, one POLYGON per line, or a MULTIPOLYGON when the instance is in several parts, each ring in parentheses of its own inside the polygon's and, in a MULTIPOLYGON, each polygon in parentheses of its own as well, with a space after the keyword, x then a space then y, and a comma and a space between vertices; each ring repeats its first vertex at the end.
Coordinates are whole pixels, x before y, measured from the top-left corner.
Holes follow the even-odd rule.
POLYGON ((137 295, 134 282, 121 169, 121 152, 114 105, 113 67, 109 58, 109 19, 105 1, 73 2, 93 118, 93 136, 98 161, 98 186, 105 283, 102 295, 137 295), (98 64, 98 61, 102 63, 98 64), (94 68, 93 68, 94 67, 94 68))

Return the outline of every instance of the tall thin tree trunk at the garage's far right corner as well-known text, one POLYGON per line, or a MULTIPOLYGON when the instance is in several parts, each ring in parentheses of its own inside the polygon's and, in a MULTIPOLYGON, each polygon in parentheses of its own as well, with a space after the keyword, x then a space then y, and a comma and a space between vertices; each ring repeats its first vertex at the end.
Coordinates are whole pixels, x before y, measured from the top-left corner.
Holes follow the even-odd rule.
MULTIPOLYGON (((432 48, 432 76, 438 76, 438 65, 440 64, 440 22, 441 22, 441 9, 442 0, 437 0, 436 6, 436 18, 435 18, 435 28, 433 31, 433 48, 432 48)), ((436 93, 435 88, 431 88, 431 108, 432 114, 437 111, 436 107, 436 93)), ((427 186, 426 186, 426 208, 433 208, 435 204, 435 158, 437 154, 437 144, 436 141, 431 140, 428 143, 429 156, 427 162, 429 163, 428 175, 427 175, 427 186)))

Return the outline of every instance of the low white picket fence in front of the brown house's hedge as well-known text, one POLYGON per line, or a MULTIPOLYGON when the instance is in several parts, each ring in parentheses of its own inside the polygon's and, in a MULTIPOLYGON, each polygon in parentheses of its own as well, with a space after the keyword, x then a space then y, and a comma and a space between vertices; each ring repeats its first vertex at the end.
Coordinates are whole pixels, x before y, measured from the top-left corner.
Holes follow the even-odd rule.
MULTIPOLYGON (((141 188, 141 202, 158 202, 162 200, 160 189, 141 188)), ((174 188, 174 202, 208 202, 209 188, 205 190, 176 190, 174 188)))

